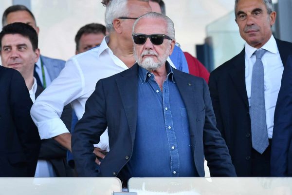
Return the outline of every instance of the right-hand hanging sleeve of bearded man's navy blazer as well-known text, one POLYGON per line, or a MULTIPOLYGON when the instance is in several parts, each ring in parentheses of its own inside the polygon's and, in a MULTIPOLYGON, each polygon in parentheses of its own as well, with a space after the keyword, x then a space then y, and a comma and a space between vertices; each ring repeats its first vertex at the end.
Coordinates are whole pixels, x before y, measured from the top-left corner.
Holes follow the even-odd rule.
POLYGON ((203 130, 204 155, 211 176, 236 176, 228 148, 216 127, 209 88, 203 82, 205 102, 205 124, 203 130))

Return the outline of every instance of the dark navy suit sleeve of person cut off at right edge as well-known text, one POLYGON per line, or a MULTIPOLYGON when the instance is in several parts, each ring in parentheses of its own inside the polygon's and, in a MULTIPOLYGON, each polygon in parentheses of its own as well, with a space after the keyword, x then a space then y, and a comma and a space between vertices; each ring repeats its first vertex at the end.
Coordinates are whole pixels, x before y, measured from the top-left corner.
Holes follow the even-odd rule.
POLYGON ((292 56, 283 72, 275 109, 271 176, 292 176, 292 56))

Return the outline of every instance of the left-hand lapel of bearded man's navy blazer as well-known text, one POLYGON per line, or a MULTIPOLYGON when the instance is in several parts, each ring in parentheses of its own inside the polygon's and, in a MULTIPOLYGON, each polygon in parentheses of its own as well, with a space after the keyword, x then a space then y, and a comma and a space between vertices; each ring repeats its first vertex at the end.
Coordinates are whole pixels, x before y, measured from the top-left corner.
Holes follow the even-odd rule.
POLYGON ((120 75, 121 77, 116 79, 116 83, 128 120, 132 144, 134 144, 138 109, 138 65, 135 64, 120 75))

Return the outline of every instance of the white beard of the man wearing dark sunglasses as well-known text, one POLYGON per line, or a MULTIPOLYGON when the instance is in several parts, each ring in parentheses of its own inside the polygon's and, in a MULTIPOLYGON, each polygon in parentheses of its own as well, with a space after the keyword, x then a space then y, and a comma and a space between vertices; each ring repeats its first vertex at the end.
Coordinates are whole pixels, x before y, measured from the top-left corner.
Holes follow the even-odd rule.
MULTIPOLYGON (((170 44, 168 45, 166 51, 170 50, 170 44)), ((144 50, 141 56, 137 55, 136 48, 134 46, 134 57, 139 66, 145 68, 147 71, 154 71, 160 68, 168 58, 168 53, 164 53, 162 57, 158 56, 158 54, 153 50, 144 50), (154 58, 148 57, 142 60, 145 55, 154 55, 157 57, 158 61, 155 61, 154 58)))

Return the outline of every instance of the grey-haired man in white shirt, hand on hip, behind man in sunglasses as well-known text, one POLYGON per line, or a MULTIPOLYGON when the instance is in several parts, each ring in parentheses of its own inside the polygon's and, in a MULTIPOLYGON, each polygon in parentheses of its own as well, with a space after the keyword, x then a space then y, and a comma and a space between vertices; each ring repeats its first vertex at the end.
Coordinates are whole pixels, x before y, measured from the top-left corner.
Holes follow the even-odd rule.
MULTIPOLYGON (((31 115, 41 139, 53 137, 71 151, 71 134, 60 120, 64 105, 71 103, 80 119, 85 102, 95 89, 96 82, 122 72, 135 63, 131 31, 134 21, 150 12, 148 0, 112 0, 106 9, 106 36, 99 47, 74 56, 51 85, 37 98, 31 115)), ((117 111, 118 112, 118 111, 117 111)), ((104 157, 109 151, 105 132, 94 153, 104 157)), ((96 159, 99 164, 99 160, 96 159)))

